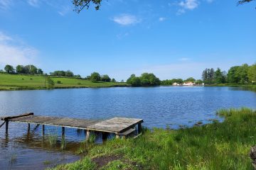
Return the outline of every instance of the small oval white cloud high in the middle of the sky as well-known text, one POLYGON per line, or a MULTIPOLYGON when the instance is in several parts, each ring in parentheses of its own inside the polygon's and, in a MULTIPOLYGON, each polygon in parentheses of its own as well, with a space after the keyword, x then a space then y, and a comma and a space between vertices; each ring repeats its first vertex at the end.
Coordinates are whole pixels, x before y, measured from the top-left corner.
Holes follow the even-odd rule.
POLYGON ((129 25, 133 25, 135 23, 139 23, 140 20, 139 18, 137 18, 137 16, 133 16, 130 14, 122 14, 119 16, 114 16, 114 18, 112 18, 112 21, 114 21, 115 23, 118 23, 122 26, 129 26, 129 25))

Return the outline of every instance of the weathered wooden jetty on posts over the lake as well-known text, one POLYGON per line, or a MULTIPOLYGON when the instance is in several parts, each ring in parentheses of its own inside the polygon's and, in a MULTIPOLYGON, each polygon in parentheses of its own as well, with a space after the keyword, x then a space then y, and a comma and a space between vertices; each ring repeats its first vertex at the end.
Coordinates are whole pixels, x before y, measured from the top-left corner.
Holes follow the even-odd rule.
MULTIPOLYGON (((105 138, 107 133, 114 133, 117 138, 126 137, 136 130, 141 135, 143 119, 134 118, 111 118, 108 120, 86 120, 78 118, 58 118, 51 116, 34 115, 33 113, 24 113, 22 115, 2 117, 6 123, 6 133, 8 133, 9 122, 28 123, 42 125, 42 135, 44 135, 45 125, 58 126, 62 128, 62 135, 65 135, 65 128, 75 128, 86 130, 86 139, 90 137, 90 132, 102 132, 105 138)), ((4 125, 4 123, 2 124, 4 125)))

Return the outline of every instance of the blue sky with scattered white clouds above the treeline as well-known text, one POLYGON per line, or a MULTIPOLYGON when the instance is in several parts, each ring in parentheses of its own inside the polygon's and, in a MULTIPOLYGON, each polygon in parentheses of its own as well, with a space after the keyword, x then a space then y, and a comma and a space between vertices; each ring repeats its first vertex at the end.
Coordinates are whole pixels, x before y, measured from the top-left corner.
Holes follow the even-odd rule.
POLYGON ((201 79, 203 69, 256 62, 256 3, 102 0, 80 13, 71 0, 0 0, 0 69, 201 79))

